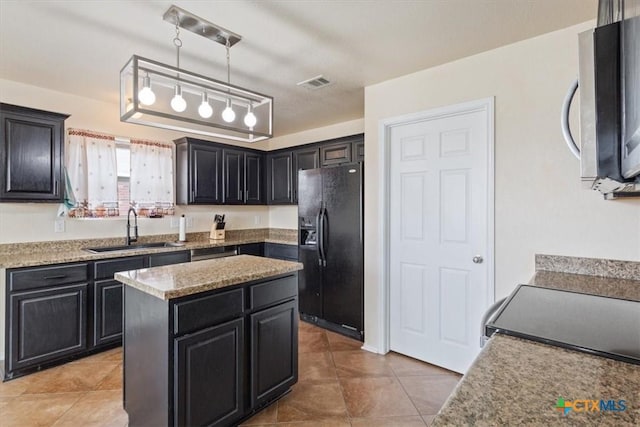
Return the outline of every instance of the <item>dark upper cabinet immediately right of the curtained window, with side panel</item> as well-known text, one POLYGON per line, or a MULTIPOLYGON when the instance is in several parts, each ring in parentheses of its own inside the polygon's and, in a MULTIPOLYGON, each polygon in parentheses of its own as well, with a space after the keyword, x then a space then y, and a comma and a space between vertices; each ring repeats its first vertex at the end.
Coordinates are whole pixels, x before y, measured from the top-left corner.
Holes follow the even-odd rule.
POLYGON ((187 138, 176 141, 178 204, 222 203, 222 149, 187 138))

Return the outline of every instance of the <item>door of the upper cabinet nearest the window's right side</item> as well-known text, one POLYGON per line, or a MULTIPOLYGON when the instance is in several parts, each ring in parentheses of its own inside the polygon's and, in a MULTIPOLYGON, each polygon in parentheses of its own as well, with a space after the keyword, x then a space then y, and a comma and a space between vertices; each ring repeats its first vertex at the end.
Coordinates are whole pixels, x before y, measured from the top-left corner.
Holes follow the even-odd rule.
POLYGON ((222 203, 222 150, 206 144, 191 144, 191 194, 189 203, 222 203))

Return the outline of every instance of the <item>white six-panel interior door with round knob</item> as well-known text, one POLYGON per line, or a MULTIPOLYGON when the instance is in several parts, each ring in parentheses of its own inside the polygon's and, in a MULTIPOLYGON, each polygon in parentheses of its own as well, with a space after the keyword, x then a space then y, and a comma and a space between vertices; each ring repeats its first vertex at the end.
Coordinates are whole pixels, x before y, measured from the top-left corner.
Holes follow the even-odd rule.
POLYGON ((457 372, 480 350, 493 299, 489 114, 467 110, 388 133, 390 349, 457 372))

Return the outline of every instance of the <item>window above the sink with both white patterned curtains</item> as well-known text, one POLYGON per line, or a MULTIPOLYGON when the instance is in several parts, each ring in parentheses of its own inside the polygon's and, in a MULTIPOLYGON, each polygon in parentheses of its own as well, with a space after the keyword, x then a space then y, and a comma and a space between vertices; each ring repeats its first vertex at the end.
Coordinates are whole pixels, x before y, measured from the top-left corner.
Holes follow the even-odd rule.
POLYGON ((65 205, 70 217, 173 215, 173 146, 69 129, 65 205))

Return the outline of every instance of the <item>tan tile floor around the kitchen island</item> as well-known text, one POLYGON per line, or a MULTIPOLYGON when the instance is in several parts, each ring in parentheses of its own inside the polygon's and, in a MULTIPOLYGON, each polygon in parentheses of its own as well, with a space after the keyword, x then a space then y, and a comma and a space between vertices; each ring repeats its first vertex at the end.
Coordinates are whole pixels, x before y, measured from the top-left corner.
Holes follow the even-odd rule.
MULTIPOLYGON (((425 426, 460 375, 300 322, 299 382, 245 426, 425 426)), ((126 426, 114 349, 0 383, 0 426, 126 426)))

